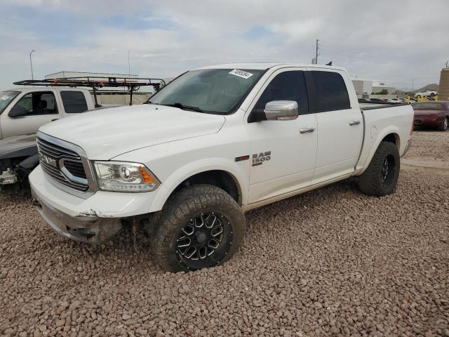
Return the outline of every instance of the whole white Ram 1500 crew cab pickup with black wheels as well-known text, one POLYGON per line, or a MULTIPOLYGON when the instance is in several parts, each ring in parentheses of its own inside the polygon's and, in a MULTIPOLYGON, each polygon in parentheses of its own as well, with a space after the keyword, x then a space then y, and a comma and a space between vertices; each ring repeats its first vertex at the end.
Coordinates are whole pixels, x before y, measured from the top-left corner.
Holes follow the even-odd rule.
POLYGON ((351 176, 394 192, 413 127, 412 107, 361 109, 347 72, 320 65, 203 67, 148 103, 41 127, 29 181, 59 234, 94 243, 141 224, 170 271, 229 259, 250 209, 351 176))

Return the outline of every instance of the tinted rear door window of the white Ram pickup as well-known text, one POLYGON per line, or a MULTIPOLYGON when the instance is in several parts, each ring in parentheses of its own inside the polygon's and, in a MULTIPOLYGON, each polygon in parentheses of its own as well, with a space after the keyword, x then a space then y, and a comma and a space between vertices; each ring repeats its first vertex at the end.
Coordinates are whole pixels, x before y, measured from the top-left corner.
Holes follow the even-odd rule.
POLYGON ((337 72, 311 71, 315 95, 313 112, 344 110, 351 107, 342 75, 337 72))

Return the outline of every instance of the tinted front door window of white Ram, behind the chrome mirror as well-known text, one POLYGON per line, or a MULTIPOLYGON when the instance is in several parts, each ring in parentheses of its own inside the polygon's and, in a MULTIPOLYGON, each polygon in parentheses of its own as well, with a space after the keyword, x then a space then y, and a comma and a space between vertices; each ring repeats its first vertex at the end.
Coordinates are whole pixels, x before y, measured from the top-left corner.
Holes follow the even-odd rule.
POLYGON ((300 114, 307 114, 309 103, 304 72, 294 70, 276 75, 257 100, 249 121, 264 119, 265 105, 272 100, 294 100, 299 107, 300 114))

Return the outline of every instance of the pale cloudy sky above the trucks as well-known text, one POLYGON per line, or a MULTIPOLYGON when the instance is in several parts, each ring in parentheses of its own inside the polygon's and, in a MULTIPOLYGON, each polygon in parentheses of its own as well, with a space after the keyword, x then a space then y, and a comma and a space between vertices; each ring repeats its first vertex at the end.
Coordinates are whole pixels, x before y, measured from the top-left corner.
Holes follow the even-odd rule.
POLYGON ((449 60, 449 0, 0 0, 0 90, 65 71, 175 77, 227 62, 333 61, 410 89, 449 60), (413 80, 415 79, 415 80, 413 80), (414 82, 414 83, 413 83, 414 82))

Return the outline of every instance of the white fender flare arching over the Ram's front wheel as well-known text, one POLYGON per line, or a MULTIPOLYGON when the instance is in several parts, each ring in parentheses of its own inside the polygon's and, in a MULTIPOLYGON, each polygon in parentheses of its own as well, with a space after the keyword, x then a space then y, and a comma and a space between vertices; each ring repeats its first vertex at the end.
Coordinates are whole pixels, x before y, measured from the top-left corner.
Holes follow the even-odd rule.
POLYGON ((184 180, 190 178, 198 173, 207 171, 224 171, 229 173, 237 185, 239 194, 241 194, 241 204, 246 204, 248 201, 248 175, 245 173, 243 167, 237 166, 234 161, 222 158, 200 159, 192 161, 185 166, 181 166, 175 172, 171 173, 166 180, 161 183, 159 190, 156 192, 149 213, 161 211, 163 205, 166 203, 168 197, 173 193, 175 188, 184 180))

